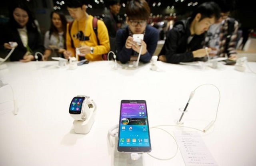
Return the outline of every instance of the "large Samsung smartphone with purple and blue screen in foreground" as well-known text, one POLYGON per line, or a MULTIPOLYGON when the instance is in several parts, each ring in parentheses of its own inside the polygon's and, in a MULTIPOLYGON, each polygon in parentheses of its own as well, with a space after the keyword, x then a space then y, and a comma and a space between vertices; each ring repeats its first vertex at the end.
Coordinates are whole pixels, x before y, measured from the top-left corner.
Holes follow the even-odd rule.
POLYGON ((118 126, 118 152, 151 152, 145 100, 122 100, 118 126))

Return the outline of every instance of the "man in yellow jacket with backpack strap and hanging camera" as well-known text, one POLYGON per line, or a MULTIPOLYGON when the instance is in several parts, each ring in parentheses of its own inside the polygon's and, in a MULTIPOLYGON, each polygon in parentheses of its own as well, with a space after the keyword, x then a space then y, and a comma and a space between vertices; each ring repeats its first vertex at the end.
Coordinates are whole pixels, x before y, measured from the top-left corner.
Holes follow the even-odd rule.
POLYGON ((108 30, 103 21, 97 21, 97 34, 93 30, 93 16, 86 13, 86 4, 82 0, 66 1, 67 9, 74 21, 67 25, 66 51, 64 57, 76 56, 89 61, 103 60, 102 54, 110 51, 108 30))

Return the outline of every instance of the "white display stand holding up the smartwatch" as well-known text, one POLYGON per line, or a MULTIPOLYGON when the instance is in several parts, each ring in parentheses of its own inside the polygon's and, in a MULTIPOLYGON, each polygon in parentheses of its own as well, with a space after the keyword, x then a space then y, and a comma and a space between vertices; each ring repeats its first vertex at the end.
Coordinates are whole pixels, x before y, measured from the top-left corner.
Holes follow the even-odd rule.
POLYGON ((74 125, 75 133, 87 134, 92 128, 92 124, 94 123, 94 118, 95 118, 95 114, 92 111, 88 119, 86 119, 85 121, 74 120, 73 125, 74 125))

